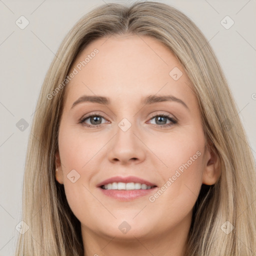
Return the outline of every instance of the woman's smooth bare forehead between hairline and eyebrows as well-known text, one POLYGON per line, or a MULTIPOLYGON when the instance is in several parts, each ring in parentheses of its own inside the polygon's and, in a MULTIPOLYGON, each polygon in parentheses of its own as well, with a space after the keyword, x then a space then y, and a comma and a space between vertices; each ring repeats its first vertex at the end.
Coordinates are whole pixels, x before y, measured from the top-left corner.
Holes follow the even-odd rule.
POLYGON ((105 95, 121 102, 140 101, 142 95, 159 93, 196 103, 178 59, 166 45, 150 36, 98 38, 79 53, 70 71, 74 69, 77 73, 66 86, 67 101, 82 94, 105 95))

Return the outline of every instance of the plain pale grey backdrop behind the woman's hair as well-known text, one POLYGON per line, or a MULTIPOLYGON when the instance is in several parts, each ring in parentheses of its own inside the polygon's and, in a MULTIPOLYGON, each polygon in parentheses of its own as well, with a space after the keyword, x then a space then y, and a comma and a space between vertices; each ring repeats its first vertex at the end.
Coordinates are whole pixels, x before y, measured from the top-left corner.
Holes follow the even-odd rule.
MULTIPOLYGON (((256 1, 160 1, 185 13, 209 40, 256 158, 256 1), (234 24, 226 29, 223 22, 226 27, 234 24)), ((68 30, 81 16, 104 2, 125 3, 0 0, 0 255, 14 255, 28 134, 46 71, 68 30), (24 29, 15 23, 20 16, 29 21, 24 29), (28 124, 24 130, 16 125, 22 118, 28 124)))

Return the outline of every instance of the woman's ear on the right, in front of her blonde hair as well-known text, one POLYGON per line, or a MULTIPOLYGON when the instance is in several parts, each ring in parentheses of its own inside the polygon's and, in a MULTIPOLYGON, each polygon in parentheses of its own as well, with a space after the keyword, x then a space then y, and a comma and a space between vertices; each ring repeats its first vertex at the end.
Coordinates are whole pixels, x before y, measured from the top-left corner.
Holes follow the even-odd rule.
POLYGON ((213 144, 206 144, 205 163, 202 183, 205 185, 213 185, 221 174, 219 155, 213 150, 213 144))

